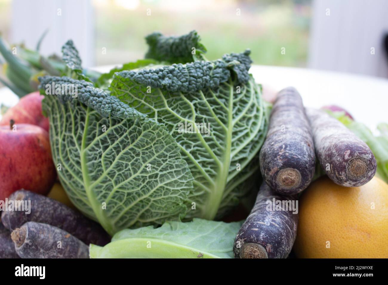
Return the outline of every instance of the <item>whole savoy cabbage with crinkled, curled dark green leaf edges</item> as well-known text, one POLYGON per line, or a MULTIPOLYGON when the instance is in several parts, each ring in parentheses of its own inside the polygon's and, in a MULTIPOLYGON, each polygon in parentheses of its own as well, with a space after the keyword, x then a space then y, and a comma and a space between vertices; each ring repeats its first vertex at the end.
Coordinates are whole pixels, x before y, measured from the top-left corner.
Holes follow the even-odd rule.
POLYGON ((248 73, 250 51, 209 61, 194 31, 146 39, 147 59, 97 83, 80 74, 69 42, 67 76, 40 78, 59 179, 74 205, 110 234, 222 218, 259 175, 268 110, 248 73), (52 84, 60 92, 48 95, 52 84))

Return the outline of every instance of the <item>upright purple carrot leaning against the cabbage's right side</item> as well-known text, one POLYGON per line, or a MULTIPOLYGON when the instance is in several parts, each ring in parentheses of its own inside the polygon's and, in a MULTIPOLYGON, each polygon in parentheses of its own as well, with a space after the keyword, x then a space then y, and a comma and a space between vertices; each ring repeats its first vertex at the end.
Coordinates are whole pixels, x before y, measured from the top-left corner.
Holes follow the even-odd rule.
POLYGON ((302 98, 293 87, 277 95, 260 150, 260 171, 265 182, 284 195, 303 191, 314 176, 312 132, 302 98))

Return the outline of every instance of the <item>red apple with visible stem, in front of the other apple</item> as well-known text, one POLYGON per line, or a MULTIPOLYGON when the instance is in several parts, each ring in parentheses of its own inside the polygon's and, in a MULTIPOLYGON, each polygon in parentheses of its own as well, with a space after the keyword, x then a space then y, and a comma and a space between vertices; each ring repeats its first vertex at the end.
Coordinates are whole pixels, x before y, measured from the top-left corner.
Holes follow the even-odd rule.
POLYGON ((55 178, 47 131, 14 122, 0 126, 0 200, 21 188, 45 195, 55 178))

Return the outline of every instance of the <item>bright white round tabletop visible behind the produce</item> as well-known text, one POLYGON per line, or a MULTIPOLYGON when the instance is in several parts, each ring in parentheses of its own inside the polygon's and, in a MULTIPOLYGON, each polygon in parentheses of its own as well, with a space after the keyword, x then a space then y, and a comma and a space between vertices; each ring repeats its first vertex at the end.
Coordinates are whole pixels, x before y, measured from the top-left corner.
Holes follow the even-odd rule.
MULTIPOLYGON (((107 72, 111 68, 113 66, 94 69, 107 72)), ((284 87, 294 86, 305 106, 319 108, 323 105, 339 105, 372 130, 380 122, 388 123, 388 79, 277 66, 253 65, 250 72, 256 82, 263 85, 266 98, 284 87)), ((17 96, 8 88, 0 88, 0 104, 12 106, 17 100, 17 96)))

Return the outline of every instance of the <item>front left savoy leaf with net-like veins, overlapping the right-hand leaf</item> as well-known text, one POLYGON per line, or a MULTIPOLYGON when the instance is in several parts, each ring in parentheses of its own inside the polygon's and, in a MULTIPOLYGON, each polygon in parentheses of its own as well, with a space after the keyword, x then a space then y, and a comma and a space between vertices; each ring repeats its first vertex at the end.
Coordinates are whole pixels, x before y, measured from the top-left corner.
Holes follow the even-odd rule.
POLYGON ((42 107, 58 177, 74 205, 110 234, 183 218, 193 178, 165 126, 92 83, 40 79, 64 80, 78 85, 78 97, 46 95, 42 107))

